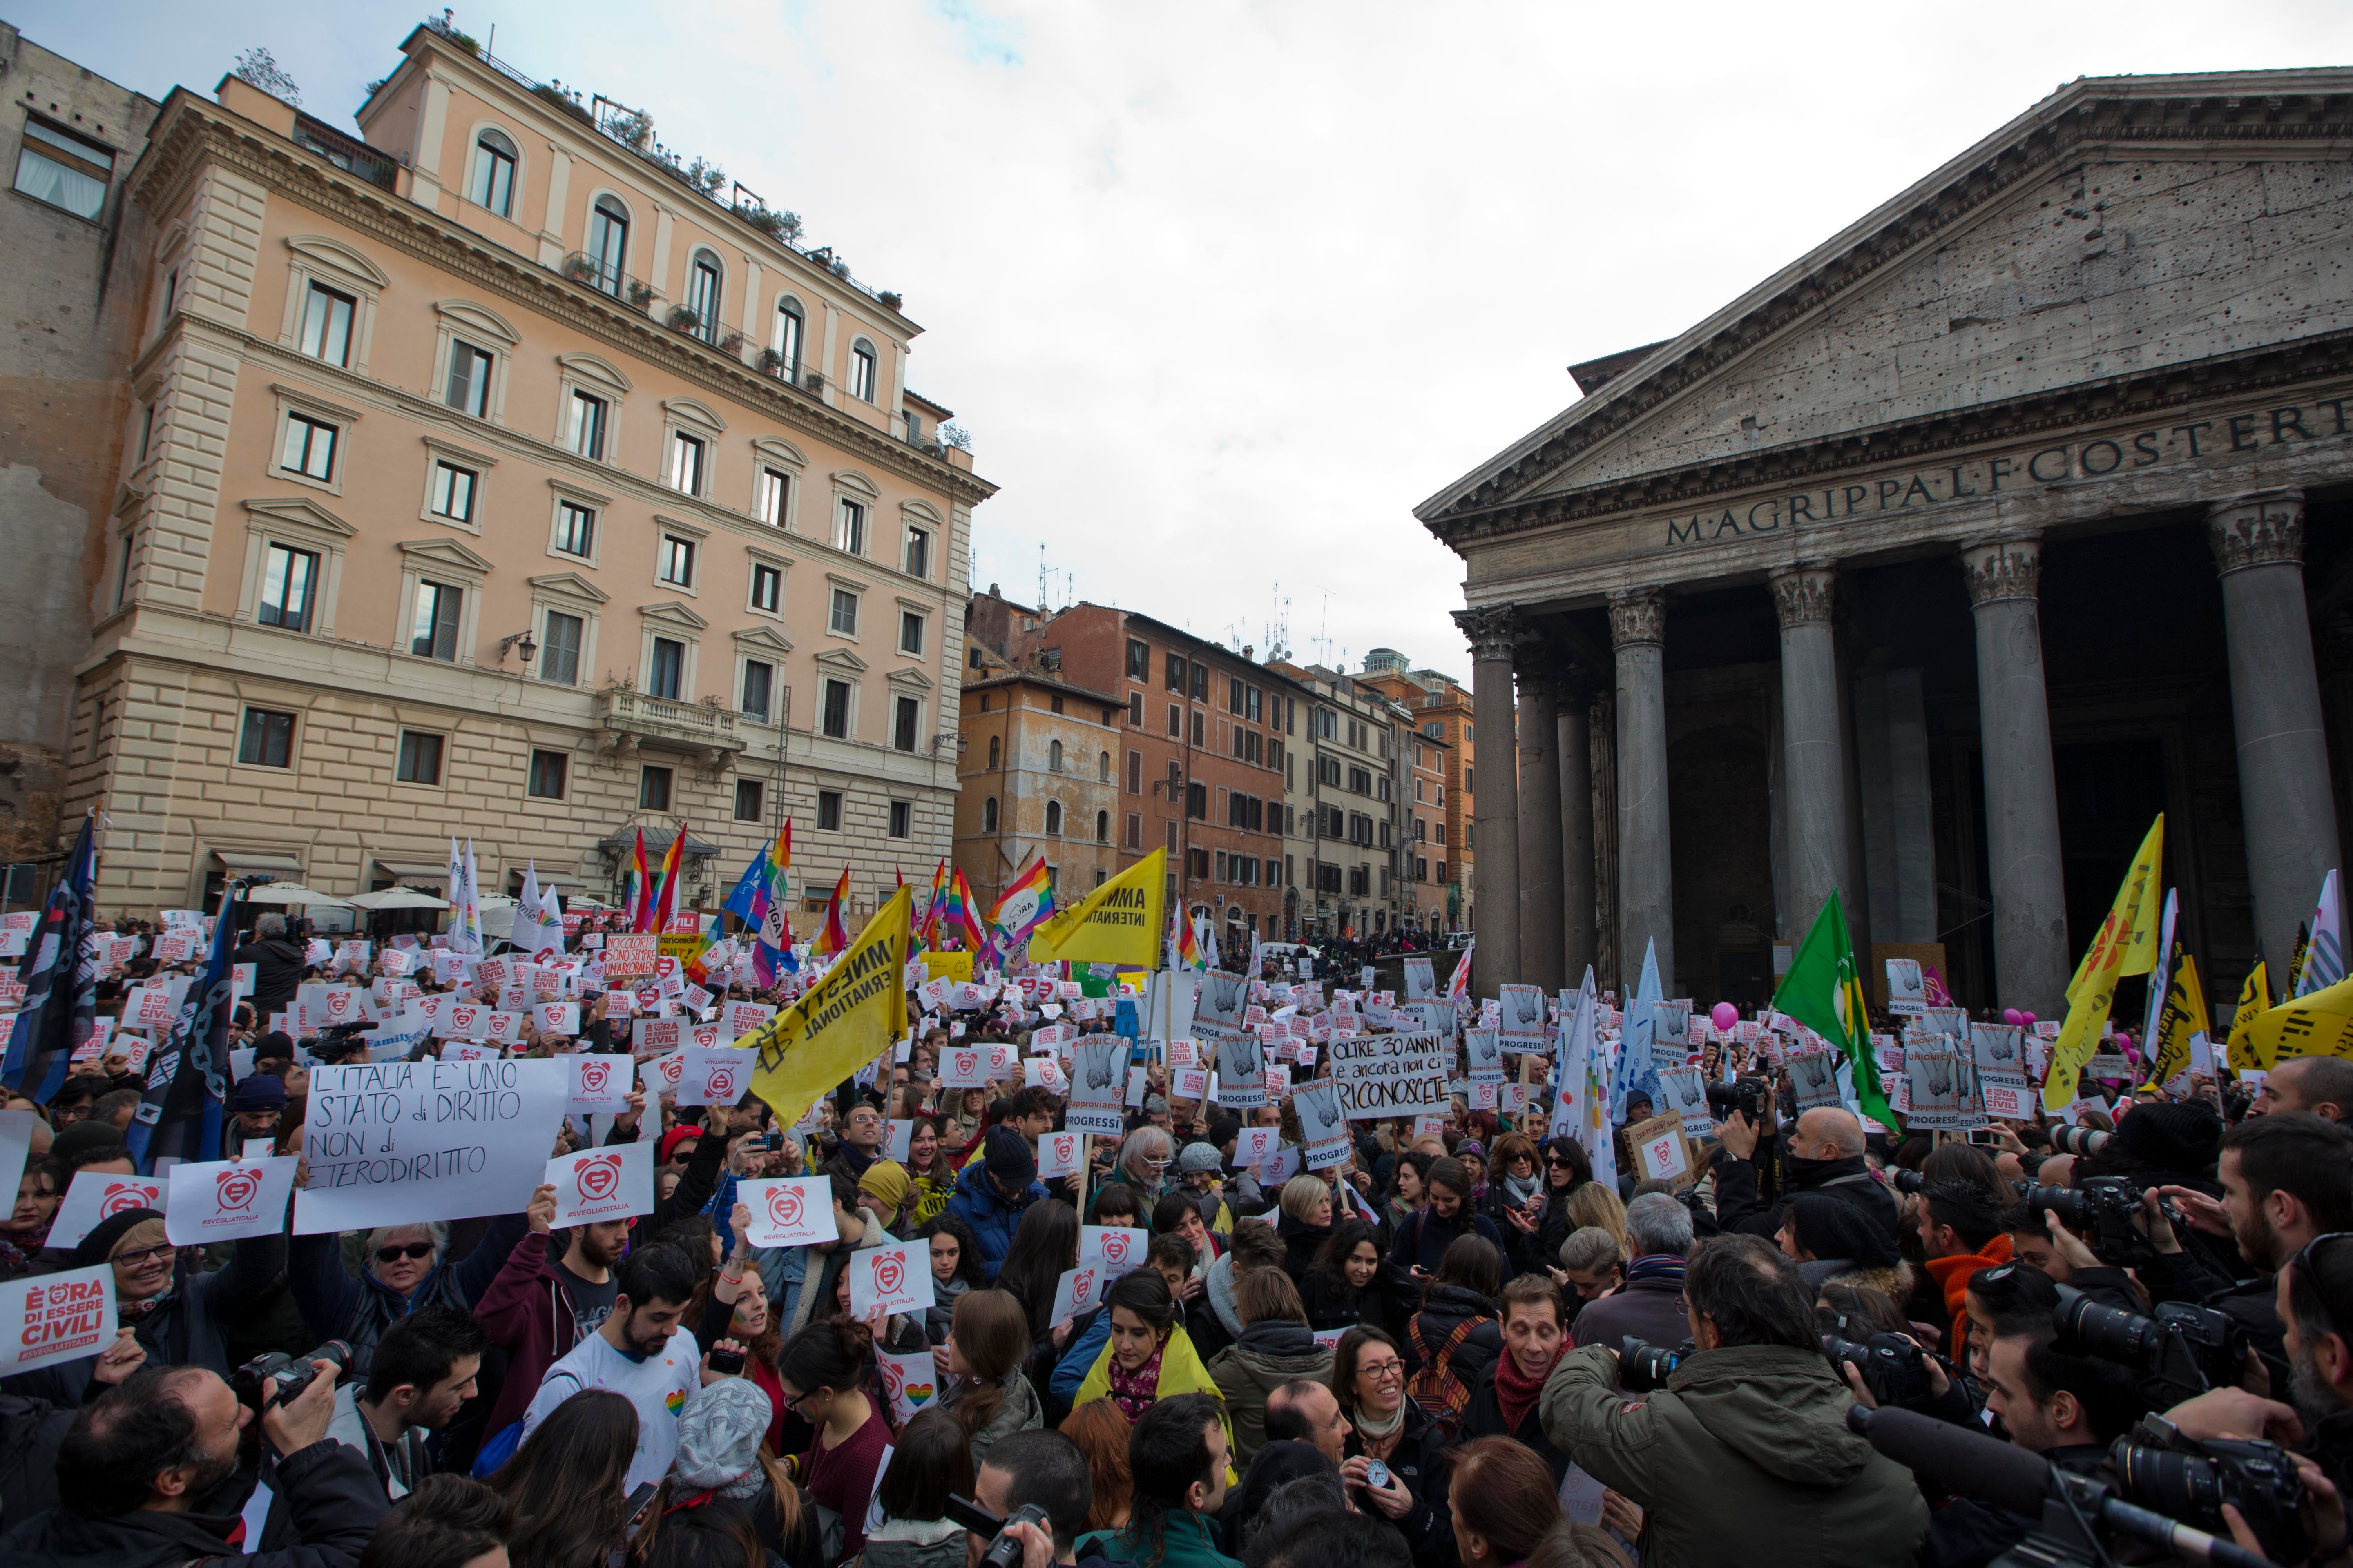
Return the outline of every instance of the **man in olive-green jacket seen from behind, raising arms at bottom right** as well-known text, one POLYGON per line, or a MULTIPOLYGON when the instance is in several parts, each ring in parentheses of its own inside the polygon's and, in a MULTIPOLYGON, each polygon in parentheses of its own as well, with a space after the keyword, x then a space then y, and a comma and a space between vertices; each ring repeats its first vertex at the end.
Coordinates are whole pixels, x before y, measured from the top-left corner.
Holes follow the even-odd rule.
POLYGON ((1694 1349, 1666 1387, 1619 1394, 1619 1354, 1572 1349, 1544 1387, 1544 1429, 1638 1502, 1642 1561, 1722 1563, 1807 1542, 1812 1568, 1906 1563, 1927 1533, 1911 1474, 1847 1429, 1854 1403, 1821 1354, 1814 1298, 1760 1237, 1713 1237, 1682 1279, 1694 1349))

